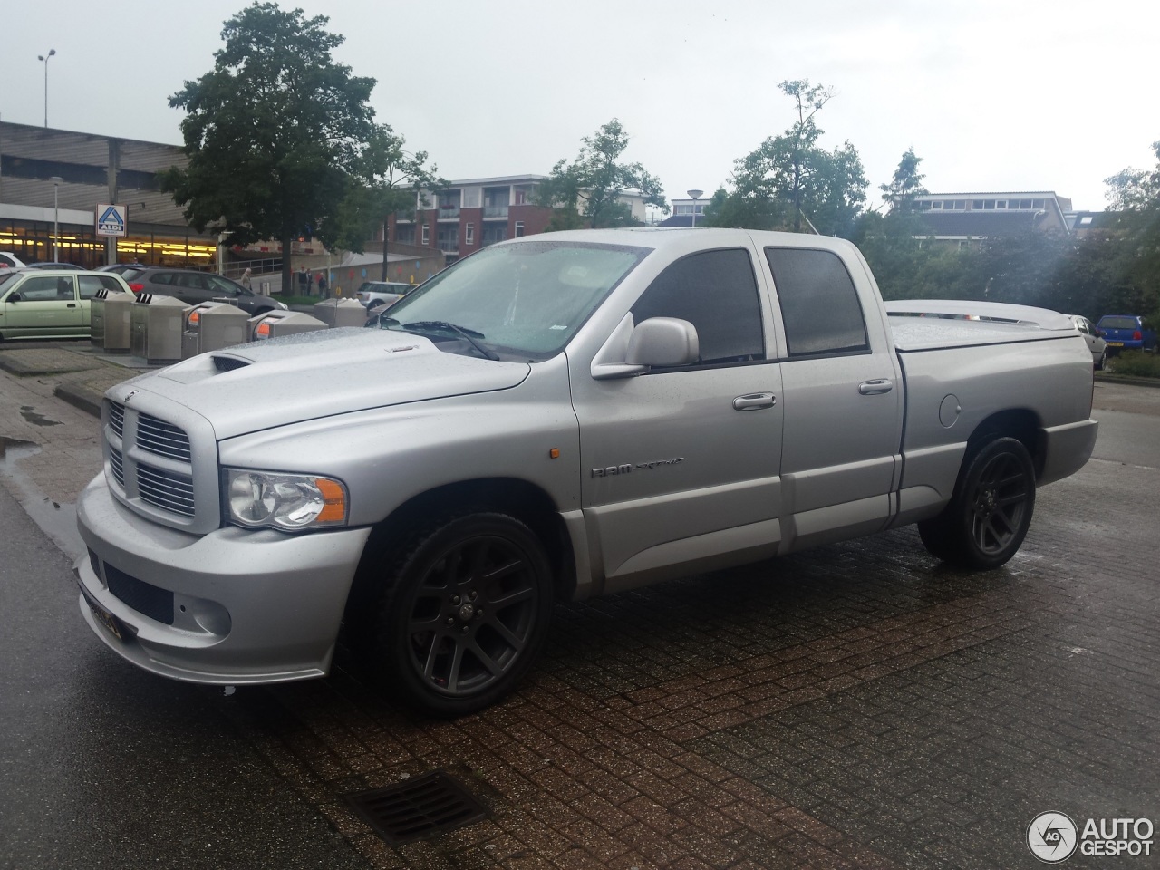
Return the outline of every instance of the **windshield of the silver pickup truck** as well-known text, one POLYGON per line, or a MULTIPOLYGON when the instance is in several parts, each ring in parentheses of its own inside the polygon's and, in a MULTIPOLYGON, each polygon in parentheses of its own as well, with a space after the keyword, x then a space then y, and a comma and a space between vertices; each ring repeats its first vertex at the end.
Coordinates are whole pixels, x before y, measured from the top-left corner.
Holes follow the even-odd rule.
MULTIPOLYGON (((541 239, 488 247, 405 296, 379 325, 415 324, 415 331, 438 338, 423 325, 454 324, 500 358, 548 360, 647 254, 648 248, 541 239)), ((467 345, 462 333, 441 332, 467 345)))

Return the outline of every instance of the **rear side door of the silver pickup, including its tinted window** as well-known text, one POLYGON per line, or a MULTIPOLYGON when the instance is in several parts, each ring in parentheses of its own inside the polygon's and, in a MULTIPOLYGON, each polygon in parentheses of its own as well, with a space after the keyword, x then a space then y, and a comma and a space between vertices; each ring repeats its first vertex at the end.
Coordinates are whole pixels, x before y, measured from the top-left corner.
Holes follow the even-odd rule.
POLYGON ((842 259, 767 247, 786 356, 783 552, 870 534, 891 515, 902 384, 882 317, 867 312, 842 259))

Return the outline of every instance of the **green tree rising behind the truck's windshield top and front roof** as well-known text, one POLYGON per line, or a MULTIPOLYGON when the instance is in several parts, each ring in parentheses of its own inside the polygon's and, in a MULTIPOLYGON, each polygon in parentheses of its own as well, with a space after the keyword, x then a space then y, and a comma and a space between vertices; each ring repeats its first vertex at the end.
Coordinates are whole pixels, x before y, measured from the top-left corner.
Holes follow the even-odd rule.
POLYGON ((549 230, 571 230, 585 223, 593 227, 639 223, 632 218, 630 206, 621 202, 626 190, 638 191, 645 203, 668 213, 668 202, 657 176, 648 174, 640 164, 621 162, 629 146, 629 135, 617 118, 582 142, 577 159, 571 164, 559 160, 536 191, 538 205, 557 209, 549 230))

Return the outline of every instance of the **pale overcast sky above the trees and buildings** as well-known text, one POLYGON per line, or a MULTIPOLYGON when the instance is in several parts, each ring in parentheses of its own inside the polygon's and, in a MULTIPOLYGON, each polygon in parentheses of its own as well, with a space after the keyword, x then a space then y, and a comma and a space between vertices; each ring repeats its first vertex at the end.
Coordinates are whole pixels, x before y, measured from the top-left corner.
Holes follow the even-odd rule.
MULTIPOLYGON (((1154 0, 331 0, 335 52, 378 80, 379 121, 447 179, 546 174, 612 117, 669 197, 727 184, 792 123, 785 79, 836 96, 871 183, 914 146, 931 191, 1054 190, 1104 206, 1103 179, 1160 139, 1154 0)), ((240 0, 5 3, 0 117, 180 144, 167 97, 212 67, 240 0)))

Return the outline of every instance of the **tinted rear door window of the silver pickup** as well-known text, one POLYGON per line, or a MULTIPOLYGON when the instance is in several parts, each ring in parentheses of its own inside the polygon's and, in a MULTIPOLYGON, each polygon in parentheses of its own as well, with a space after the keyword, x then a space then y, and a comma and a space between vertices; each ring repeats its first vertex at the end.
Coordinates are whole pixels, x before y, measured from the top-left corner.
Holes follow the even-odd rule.
POLYGON ((854 281, 831 251, 766 248, 790 356, 867 350, 854 281))

